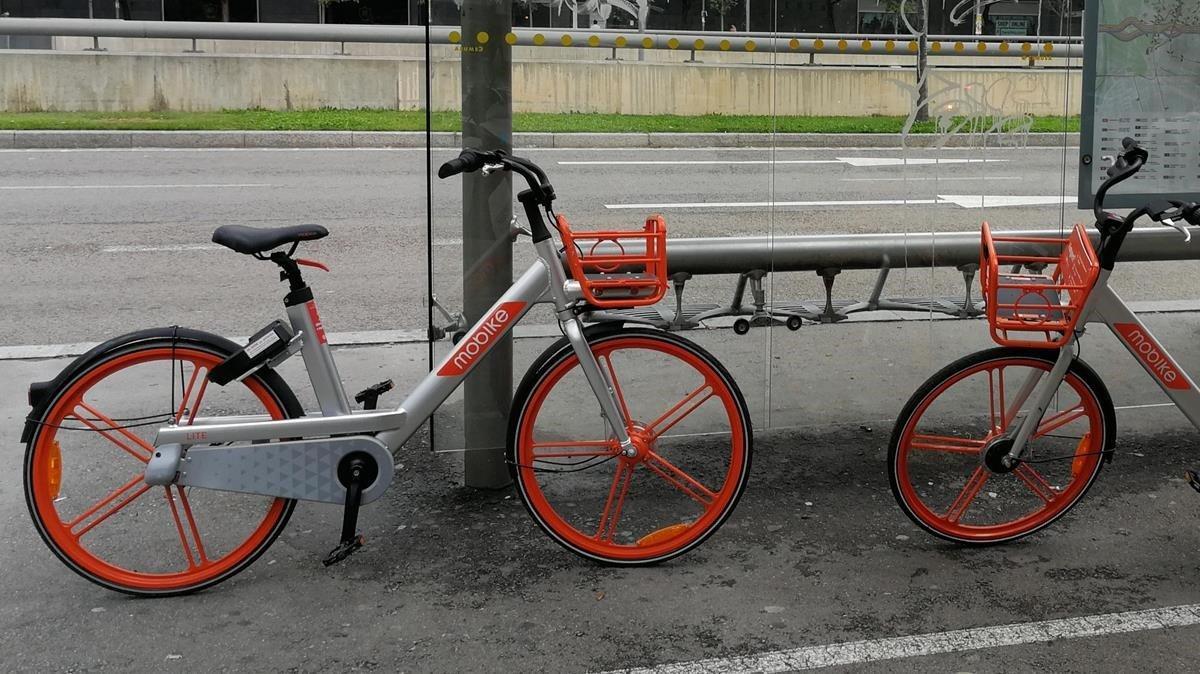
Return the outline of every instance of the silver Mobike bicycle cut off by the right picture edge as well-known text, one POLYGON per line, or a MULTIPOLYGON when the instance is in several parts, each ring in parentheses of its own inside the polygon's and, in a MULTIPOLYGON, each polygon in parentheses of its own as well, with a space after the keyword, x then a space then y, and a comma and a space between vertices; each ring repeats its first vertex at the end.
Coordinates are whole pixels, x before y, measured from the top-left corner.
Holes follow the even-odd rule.
MULTIPOLYGON (((926 531, 960 543, 1000 543, 1049 525, 1074 506, 1112 458, 1116 414, 1100 377, 1079 357, 1086 324, 1108 325, 1200 428, 1200 390, 1109 288, 1121 245, 1145 216, 1181 231, 1200 206, 1160 201, 1126 217, 1104 195, 1148 154, 1133 139, 1096 194, 1099 246, 1082 224, 1061 240, 994 236, 983 227, 980 279, 1001 348, 965 356, 908 399, 892 433, 896 503, 926 531), (1044 251, 1020 254, 1040 245, 1044 251)), ((1189 474, 1193 487, 1200 480, 1189 474)))

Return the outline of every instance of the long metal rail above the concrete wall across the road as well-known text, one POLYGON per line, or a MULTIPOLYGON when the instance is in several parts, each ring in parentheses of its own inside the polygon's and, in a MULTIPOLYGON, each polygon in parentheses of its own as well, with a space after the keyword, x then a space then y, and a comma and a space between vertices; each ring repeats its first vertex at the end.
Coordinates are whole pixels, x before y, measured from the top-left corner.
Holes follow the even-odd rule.
MULTIPOLYGON (((0 35, 144 37, 197 40, 264 40, 298 42, 378 42, 419 44, 419 25, 257 24, 216 22, 125 22, 116 19, 0 19, 0 35)), ((457 26, 431 26, 433 44, 484 50, 500 41, 522 47, 581 47, 697 52, 767 52, 798 54, 916 54, 912 35, 814 35, 727 32, 637 32, 630 30, 562 30, 515 28, 505 35, 463 35, 457 26)), ((938 56, 1080 58, 1082 42, 1055 36, 1039 40, 1001 36, 938 35, 928 38, 928 54, 938 56)))

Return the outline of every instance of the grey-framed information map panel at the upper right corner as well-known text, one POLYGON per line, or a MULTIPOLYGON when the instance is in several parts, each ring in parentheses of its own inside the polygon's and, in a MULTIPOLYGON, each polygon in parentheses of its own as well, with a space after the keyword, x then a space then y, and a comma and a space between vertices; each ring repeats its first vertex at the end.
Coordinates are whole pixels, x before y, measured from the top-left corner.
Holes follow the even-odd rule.
POLYGON ((1079 206, 1092 207, 1121 139, 1150 151, 1106 207, 1200 200, 1200 1, 1088 0, 1079 206))

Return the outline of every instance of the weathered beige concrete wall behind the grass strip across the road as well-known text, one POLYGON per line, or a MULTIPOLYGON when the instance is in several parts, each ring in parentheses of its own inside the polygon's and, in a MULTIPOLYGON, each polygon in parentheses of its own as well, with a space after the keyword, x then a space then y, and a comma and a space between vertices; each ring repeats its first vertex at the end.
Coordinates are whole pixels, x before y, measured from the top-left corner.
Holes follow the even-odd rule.
MULTIPOLYGON (((388 108, 421 104, 415 59, 11 52, 4 110, 388 108)), ((1079 114, 1080 73, 937 68, 935 107, 958 114, 1079 114)), ((517 112, 905 115, 911 68, 637 61, 514 64, 517 112)), ((433 107, 458 109, 456 60, 433 65, 433 107)))

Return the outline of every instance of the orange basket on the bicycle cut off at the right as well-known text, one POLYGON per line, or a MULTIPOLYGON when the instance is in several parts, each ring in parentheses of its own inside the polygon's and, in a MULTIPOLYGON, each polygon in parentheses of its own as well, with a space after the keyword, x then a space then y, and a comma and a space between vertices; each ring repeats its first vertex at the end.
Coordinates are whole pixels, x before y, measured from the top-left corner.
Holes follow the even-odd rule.
POLYGON ((992 236, 985 222, 979 271, 991 338, 1004 347, 1052 349, 1070 339, 1100 264, 1082 224, 1066 239, 1032 239, 992 236), (996 252, 997 243, 1040 243, 1050 251, 1045 255, 1003 254, 996 252), (1045 272, 1020 273, 1027 267, 1045 272))

